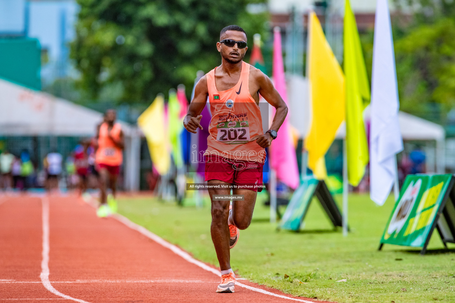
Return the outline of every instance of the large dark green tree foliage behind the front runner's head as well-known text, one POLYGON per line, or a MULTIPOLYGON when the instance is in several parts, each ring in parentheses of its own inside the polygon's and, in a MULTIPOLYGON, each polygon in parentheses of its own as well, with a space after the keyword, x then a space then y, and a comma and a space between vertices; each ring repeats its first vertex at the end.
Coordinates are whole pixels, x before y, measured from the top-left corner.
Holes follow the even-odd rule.
POLYGON ((264 0, 77 0, 81 10, 71 58, 87 98, 150 102, 178 84, 191 91, 197 70, 219 65, 222 27, 266 33, 266 12, 246 7, 264 0), (107 93, 106 93, 107 91, 107 93))

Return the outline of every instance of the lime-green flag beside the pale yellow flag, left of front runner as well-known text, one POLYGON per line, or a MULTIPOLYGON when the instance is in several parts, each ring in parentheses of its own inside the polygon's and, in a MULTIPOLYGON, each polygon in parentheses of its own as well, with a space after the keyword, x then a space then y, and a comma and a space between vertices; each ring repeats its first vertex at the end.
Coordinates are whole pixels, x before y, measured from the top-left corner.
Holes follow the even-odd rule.
POLYGON ((175 89, 169 90, 169 103, 168 106, 168 125, 169 125, 169 141, 172 146, 172 156, 174 158, 174 163, 177 168, 182 167, 182 143, 180 142, 180 133, 183 128, 183 119, 180 119, 180 103, 177 99, 177 94, 175 89))

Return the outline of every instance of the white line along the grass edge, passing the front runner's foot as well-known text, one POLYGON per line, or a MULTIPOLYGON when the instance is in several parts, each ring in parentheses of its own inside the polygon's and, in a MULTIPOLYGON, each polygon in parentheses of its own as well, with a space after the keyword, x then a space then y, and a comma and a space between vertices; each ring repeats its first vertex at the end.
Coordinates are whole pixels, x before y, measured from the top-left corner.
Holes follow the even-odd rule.
MULTIPOLYGON (((129 219, 127 219, 126 217, 123 217, 120 214, 114 214, 114 215, 112 215, 112 217, 117 219, 121 223, 125 224, 129 228, 137 230, 139 233, 142 233, 144 236, 146 236, 147 238, 152 239, 153 241, 157 242, 158 244, 161 244, 162 246, 164 246, 166 248, 169 248, 170 250, 172 250, 172 252, 174 252, 177 255, 179 255, 180 257, 184 258, 189 263, 193 263, 193 264, 199 266, 200 268, 205 269, 205 270, 207 270, 207 271, 209 271, 211 273, 214 273, 217 276, 221 277, 221 272, 219 270, 217 270, 215 268, 212 268, 212 267, 208 266, 207 264, 202 263, 199 260, 196 260, 195 258, 190 256, 189 253, 183 251, 182 249, 178 248, 174 244, 171 244, 171 243, 167 242, 166 240, 164 240, 160 236, 156 235, 155 233, 152 233, 147 228, 145 228, 145 227, 143 227, 143 226, 141 226, 139 224, 136 224, 134 222, 131 222, 129 219)), ((278 298, 283 298, 283 299, 288 299, 288 300, 293 300, 293 301, 298 301, 298 302, 304 302, 304 303, 315 303, 314 301, 308 301, 308 300, 303 300, 303 299, 298 299, 298 298, 291 298, 291 297, 283 296, 283 295, 278 294, 278 293, 272 293, 272 292, 269 292, 269 291, 261 289, 261 288, 256 288, 256 287, 253 287, 253 286, 249 286, 249 285, 240 283, 238 281, 235 283, 235 285, 238 285, 238 286, 243 287, 243 288, 247 288, 249 290, 252 290, 252 291, 255 291, 255 292, 258 292, 258 293, 267 294, 267 295, 270 295, 270 296, 273 296, 273 297, 278 297, 278 298)))

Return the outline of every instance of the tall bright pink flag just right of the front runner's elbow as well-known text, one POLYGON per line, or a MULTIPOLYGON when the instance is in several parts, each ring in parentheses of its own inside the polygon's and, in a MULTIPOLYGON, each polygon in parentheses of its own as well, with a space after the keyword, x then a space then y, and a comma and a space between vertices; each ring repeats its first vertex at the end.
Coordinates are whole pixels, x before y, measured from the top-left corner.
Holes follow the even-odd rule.
MULTIPOLYGON (((281 98, 288 104, 283 54, 281 52, 281 33, 278 26, 273 30, 273 83, 281 98)), ((275 108, 273 108, 273 114, 275 114, 275 108)), ((274 139, 270 146, 270 159, 271 166, 277 173, 277 178, 290 188, 296 189, 299 183, 298 167, 294 146, 290 138, 288 116, 278 131, 277 139, 274 139)))

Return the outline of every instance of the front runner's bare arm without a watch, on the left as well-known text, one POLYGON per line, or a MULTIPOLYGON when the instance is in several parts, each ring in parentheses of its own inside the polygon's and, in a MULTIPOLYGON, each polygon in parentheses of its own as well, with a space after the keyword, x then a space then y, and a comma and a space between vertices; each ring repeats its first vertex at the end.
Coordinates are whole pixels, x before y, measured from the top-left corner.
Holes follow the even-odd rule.
POLYGON ((207 103, 208 88, 207 88, 207 77, 204 75, 196 84, 194 89, 194 97, 188 107, 188 114, 183 119, 183 126, 190 133, 196 134, 197 128, 202 129, 200 124, 202 118, 202 109, 204 109, 207 103))

